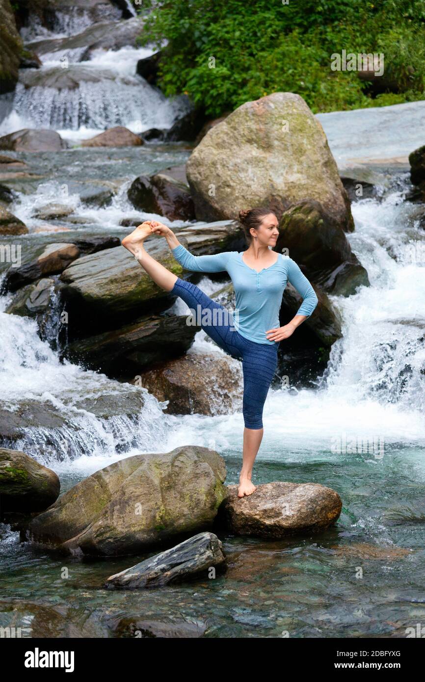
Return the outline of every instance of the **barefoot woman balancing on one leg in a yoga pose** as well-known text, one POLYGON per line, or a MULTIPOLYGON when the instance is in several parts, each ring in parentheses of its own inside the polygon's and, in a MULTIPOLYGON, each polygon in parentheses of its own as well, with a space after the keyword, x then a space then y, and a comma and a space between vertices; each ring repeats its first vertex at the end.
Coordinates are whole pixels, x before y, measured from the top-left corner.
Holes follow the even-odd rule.
POLYGON ((317 296, 298 265, 288 256, 272 251, 278 239, 278 219, 269 209, 240 211, 239 220, 246 234, 248 249, 214 256, 192 256, 171 231, 160 222, 147 220, 121 242, 138 260, 158 286, 179 296, 205 319, 201 327, 232 357, 242 359, 244 373, 244 452, 239 476, 238 496, 250 495, 252 467, 263 439, 263 406, 278 363, 280 341, 289 338, 317 306, 317 296), (227 323, 226 311, 198 286, 181 280, 149 256, 143 241, 152 233, 165 237, 173 256, 186 269, 220 272, 231 276, 236 295, 236 312, 227 323), (279 327, 279 310, 287 282, 304 299, 291 322, 279 327), (216 314, 214 314, 214 311, 216 314), (218 314, 220 313, 220 314, 218 314), (211 323, 210 323, 211 321, 211 323), (224 322, 223 322, 224 321, 224 322))

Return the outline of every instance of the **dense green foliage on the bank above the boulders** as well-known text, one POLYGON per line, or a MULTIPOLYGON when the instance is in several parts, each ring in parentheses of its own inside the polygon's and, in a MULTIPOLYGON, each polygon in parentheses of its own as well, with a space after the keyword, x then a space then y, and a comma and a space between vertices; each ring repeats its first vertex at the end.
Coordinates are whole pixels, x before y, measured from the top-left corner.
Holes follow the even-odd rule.
POLYGON ((274 91, 302 95, 314 112, 425 97, 423 0, 144 0, 143 13, 141 44, 163 49, 160 87, 211 116, 274 91), (383 53, 383 93, 357 72, 332 72, 343 49, 383 53))

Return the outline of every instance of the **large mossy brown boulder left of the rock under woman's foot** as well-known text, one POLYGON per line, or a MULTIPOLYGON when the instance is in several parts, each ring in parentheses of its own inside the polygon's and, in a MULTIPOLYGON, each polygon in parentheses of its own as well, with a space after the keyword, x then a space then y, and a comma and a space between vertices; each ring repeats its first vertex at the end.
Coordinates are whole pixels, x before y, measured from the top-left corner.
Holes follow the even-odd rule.
POLYGON ((144 552, 211 527, 226 466, 205 447, 143 454, 96 471, 29 522, 34 542, 71 554, 144 552))

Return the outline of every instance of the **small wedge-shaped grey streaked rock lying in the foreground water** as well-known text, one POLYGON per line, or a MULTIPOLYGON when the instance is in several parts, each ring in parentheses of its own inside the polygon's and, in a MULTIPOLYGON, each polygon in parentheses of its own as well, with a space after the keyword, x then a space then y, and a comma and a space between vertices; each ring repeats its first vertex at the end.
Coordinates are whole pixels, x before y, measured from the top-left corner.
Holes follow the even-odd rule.
POLYGON ((110 576, 105 587, 162 587, 188 578, 208 578, 211 567, 226 563, 223 546, 214 533, 199 533, 175 547, 110 576))

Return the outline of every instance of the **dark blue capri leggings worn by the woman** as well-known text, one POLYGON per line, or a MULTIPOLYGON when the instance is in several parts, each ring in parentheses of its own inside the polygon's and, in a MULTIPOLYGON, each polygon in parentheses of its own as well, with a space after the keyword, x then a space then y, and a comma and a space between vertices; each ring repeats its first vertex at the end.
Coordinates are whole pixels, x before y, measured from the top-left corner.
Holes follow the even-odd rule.
POLYGON ((279 344, 272 346, 255 343, 241 336, 231 322, 229 323, 229 312, 191 282, 178 277, 171 294, 183 299, 192 313, 200 311, 201 327, 208 336, 211 336, 223 351, 232 357, 242 359, 244 373, 242 412, 245 426, 251 429, 263 428, 263 407, 276 372, 279 344), (207 311, 210 311, 210 314, 207 311))

